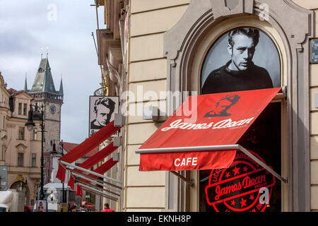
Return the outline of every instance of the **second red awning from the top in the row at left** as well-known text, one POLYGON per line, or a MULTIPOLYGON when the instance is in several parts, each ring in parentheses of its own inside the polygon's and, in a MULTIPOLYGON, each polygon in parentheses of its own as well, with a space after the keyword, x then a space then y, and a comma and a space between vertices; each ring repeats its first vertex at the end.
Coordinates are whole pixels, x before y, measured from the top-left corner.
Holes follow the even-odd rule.
MULTIPOLYGON (((98 162, 103 160, 105 157, 113 153, 118 147, 114 147, 114 143, 110 143, 107 145, 105 148, 102 148, 98 153, 90 157, 88 160, 83 162, 81 165, 78 165, 78 167, 82 167, 84 169, 89 169, 90 167, 93 167, 96 165, 98 162)), ((74 171, 81 172, 79 169, 74 169, 74 171)), ((68 184, 71 189, 74 189, 74 179, 73 177, 70 177, 69 179, 69 184, 68 184)))

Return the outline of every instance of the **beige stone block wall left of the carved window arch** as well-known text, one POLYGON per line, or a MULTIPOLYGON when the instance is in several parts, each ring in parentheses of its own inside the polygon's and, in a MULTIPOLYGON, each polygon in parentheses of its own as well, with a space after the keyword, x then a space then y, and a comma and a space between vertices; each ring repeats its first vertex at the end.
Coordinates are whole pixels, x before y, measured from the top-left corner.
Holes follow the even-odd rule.
POLYGON ((140 172, 139 155, 135 150, 160 126, 160 123, 143 120, 143 106, 158 106, 160 114, 166 112, 167 61, 163 57, 163 33, 182 17, 189 1, 131 1, 125 211, 161 211, 165 208, 165 172, 140 172))

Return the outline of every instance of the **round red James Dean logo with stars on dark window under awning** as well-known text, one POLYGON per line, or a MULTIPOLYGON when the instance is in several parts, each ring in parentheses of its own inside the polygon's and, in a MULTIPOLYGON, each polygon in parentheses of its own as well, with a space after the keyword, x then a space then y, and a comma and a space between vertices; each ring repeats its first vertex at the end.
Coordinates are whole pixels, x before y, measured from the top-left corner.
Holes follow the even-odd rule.
MULTIPOLYGON (((264 162, 257 154, 250 152, 264 162)), ((211 170, 206 199, 217 212, 263 212, 275 183, 271 173, 237 150, 230 167, 211 170)))

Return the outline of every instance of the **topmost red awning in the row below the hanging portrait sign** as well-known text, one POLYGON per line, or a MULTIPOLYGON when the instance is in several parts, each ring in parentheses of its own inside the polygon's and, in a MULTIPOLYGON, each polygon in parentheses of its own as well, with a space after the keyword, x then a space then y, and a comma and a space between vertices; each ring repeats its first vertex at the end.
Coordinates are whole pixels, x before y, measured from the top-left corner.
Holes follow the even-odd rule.
MULTIPOLYGON (((121 127, 114 127, 114 121, 111 121, 110 124, 102 127, 97 133, 94 133, 93 136, 87 138, 83 143, 73 148, 69 153, 59 158, 59 160, 72 163, 78 160, 80 157, 83 157, 91 150, 96 148, 100 143, 105 141, 107 138, 110 138, 115 132, 119 131, 121 127)), ((62 182, 65 181, 65 169, 59 165, 57 171, 57 178, 62 182)))

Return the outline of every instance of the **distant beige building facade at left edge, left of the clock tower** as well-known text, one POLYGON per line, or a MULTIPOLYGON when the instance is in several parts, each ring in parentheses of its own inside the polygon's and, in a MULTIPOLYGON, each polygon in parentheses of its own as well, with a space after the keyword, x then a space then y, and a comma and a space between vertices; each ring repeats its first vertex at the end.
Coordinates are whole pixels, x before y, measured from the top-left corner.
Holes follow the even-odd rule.
MULTIPOLYGON (((1 164, 8 168, 7 188, 20 191, 25 206, 37 200, 40 183, 40 136, 36 129, 28 131, 28 107, 33 98, 25 91, 6 89, 4 77, 1 86, 1 164)), ((39 124, 36 124, 39 128, 39 124)))

